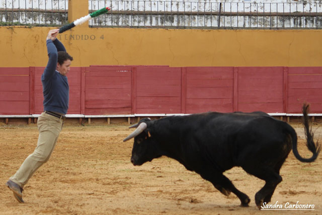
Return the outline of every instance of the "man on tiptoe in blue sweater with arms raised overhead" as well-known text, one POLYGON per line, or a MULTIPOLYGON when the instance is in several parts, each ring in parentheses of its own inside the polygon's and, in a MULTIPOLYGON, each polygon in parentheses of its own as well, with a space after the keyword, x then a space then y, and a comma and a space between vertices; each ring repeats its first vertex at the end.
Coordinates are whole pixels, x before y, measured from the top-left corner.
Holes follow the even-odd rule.
POLYGON ((73 58, 56 38, 58 31, 58 29, 50 30, 46 39, 49 60, 41 76, 44 112, 39 116, 37 122, 39 130, 37 147, 6 183, 13 191, 15 198, 21 203, 24 202, 22 198, 23 187, 34 172, 48 161, 54 150, 68 109, 69 86, 66 75, 73 58))

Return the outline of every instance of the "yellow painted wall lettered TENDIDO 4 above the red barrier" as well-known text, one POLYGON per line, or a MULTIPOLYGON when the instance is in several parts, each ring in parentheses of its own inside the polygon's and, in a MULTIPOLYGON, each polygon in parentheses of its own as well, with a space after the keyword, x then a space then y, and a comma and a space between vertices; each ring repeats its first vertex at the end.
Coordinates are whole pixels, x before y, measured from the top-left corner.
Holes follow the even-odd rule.
MULTIPOLYGON (((84 27, 85 26, 85 27, 84 27)), ((48 27, 0 27, 0 67, 45 66, 48 27)), ((322 66, 321 30, 74 27, 58 35, 72 66, 322 66)))

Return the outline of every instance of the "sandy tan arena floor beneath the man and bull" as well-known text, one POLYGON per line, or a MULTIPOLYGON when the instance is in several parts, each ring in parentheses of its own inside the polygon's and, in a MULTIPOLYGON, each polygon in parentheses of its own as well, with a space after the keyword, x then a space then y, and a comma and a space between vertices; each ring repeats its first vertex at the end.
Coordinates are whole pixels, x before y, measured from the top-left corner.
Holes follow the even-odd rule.
MULTIPOLYGON (((292 124, 300 138, 303 129, 292 124)), ((0 214, 321 214, 322 155, 314 163, 301 163, 291 152, 281 169, 283 181, 272 198, 274 204, 314 204, 315 210, 260 211, 255 193, 264 182, 240 168, 224 174, 251 198, 240 207, 231 193, 225 197, 210 182, 181 164, 162 157, 134 167, 132 141, 122 142, 133 129, 125 125, 65 125, 50 160, 25 186, 19 203, 6 181, 36 146, 35 124, 0 124, 0 214)), ((313 125, 315 139, 322 140, 322 124, 313 125)), ((303 139, 298 149, 310 157, 303 139)))

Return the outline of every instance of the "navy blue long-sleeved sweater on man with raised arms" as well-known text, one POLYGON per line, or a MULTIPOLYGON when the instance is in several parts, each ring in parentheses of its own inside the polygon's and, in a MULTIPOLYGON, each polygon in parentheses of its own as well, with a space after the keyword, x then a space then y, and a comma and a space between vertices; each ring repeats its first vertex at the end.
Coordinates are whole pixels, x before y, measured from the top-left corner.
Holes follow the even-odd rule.
POLYGON ((69 86, 66 76, 60 75, 56 70, 57 51, 66 51, 63 44, 55 39, 46 41, 48 51, 48 63, 41 76, 44 94, 44 111, 54 111, 66 114, 69 102, 69 86))

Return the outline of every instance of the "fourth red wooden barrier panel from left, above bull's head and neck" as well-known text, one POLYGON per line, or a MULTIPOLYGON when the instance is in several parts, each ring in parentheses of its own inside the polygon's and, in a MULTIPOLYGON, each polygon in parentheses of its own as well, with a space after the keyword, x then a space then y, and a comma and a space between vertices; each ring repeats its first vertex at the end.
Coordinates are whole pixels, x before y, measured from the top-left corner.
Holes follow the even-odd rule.
POLYGON ((137 67, 135 113, 181 113, 181 67, 137 67))

